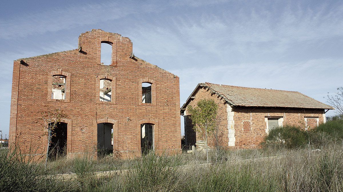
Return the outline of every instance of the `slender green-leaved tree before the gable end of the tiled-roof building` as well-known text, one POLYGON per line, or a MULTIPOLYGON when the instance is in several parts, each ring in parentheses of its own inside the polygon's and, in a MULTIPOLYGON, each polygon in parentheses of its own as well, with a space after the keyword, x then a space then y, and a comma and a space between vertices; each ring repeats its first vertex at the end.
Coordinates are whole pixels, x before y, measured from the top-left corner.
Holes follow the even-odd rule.
POLYGON ((196 107, 193 108, 191 105, 187 107, 190 119, 194 125, 194 131, 200 133, 206 142, 207 164, 209 163, 208 136, 213 133, 217 124, 217 110, 218 105, 213 99, 202 99, 197 103, 196 107))

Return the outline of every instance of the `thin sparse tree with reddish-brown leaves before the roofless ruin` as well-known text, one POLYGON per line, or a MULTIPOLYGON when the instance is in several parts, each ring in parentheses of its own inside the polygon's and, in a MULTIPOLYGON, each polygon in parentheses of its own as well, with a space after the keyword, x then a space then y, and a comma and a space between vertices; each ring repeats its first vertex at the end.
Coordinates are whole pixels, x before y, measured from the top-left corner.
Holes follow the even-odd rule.
POLYGON ((49 155, 49 148, 51 144, 51 137, 53 137, 54 129, 57 127, 57 124, 60 123, 63 119, 67 119, 69 116, 64 114, 62 109, 55 109, 52 110, 49 106, 44 106, 46 109, 42 111, 38 111, 37 113, 40 114, 34 122, 39 123, 43 130, 46 131, 44 133, 45 136, 48 137, 48 147, 46 150, 46 158, 45 158, 45 168, 48 164, 48 155, 49 155))

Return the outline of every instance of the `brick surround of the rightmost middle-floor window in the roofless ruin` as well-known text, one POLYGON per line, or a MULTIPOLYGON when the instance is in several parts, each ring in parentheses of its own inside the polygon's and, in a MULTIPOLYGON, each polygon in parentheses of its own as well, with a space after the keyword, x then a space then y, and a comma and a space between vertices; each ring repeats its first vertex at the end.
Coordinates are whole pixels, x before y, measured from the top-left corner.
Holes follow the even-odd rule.
POLYGON ((139 105, 150 105, 150 106, 156 106, 156 81, 147 77, 144 79, 140 79, 139 86, 138 86, 138 102, 139 105), (144 95, 144 87, 142 87, 143 83, 149 83, 151 84, 150 90, 151 90, 151 102, 146 103, 145 102, 145 95, 144 95))

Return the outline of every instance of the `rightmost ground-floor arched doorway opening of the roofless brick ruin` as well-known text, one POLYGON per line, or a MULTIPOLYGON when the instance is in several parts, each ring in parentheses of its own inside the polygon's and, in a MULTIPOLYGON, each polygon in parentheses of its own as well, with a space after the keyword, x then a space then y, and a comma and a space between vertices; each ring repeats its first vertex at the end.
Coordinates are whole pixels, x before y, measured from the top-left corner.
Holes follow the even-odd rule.
POLYGON ((141 150, 147 154, 154 149, 154 125, 151 123, 141 124, 141 150))

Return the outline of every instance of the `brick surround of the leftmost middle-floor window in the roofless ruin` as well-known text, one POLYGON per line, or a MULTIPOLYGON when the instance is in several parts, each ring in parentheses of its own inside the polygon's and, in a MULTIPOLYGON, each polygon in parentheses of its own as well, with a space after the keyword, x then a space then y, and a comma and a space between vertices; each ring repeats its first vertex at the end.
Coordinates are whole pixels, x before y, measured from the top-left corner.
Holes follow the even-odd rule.
POLYGON ((70 79, 71 74, 62 69, 51 71, 48 77, 48 101, 70 102, 70 79), (60 79, 60 82, 55 82, 56 79, 60 79), (56 90, 59 90, 62 96, 56 97, 56 90))

